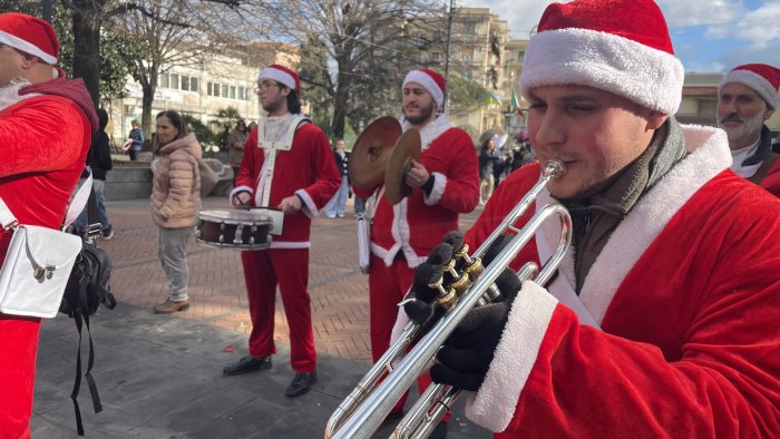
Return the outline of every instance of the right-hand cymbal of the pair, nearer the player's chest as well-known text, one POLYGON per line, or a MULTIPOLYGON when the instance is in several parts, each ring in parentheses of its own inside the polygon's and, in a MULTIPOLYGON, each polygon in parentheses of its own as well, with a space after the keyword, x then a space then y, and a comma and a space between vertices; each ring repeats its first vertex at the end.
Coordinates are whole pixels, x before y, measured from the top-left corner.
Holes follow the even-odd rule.
POLYGON ((384 173, 384 198, 390 205, 396 205, 411 195, 411 187, 406 184, 407 174, 411 168, 412 158, 420 159, 420 130, 409 128, 398 138, 392 148, 388 169, 384 173))

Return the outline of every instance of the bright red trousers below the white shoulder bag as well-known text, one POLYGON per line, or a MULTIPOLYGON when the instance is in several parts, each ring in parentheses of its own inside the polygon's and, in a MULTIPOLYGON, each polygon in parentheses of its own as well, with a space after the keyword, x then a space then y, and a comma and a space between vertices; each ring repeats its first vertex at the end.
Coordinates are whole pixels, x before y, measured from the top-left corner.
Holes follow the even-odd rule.
POLYGON ((30 437, 40 319, 0 314, 0 438, 30 437))

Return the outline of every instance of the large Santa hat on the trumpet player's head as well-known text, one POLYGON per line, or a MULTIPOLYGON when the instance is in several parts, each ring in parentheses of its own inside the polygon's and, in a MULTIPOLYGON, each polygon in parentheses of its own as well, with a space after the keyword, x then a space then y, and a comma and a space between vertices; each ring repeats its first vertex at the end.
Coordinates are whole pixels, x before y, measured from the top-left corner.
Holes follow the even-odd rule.
POLYGON ((674 114, 684 71, 652 0, 574 0, 547 7, 526 49, 520 89, 588 86, 674 114))

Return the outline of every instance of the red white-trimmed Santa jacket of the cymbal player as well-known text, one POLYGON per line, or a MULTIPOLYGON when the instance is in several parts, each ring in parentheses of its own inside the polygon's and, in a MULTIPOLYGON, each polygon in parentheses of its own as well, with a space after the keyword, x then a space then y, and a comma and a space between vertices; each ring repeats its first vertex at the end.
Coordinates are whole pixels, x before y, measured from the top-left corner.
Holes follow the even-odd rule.
MULTIPOLYGON (((409 128, 404 124, 404 130, 409 128)), ((458 215, 474 211, 479 201, 479 164, 471 138, 449 125, 443 116, 420 130, 420 163, 433 176, 430 196, 416 188, 399 204, 391 206, 379 187, 371 226, 371 252, 389 266, 399 251, 415 267, 448 232, 458 230, 458 215)), ((361 198, 377 188, 354 187, 361 198)))

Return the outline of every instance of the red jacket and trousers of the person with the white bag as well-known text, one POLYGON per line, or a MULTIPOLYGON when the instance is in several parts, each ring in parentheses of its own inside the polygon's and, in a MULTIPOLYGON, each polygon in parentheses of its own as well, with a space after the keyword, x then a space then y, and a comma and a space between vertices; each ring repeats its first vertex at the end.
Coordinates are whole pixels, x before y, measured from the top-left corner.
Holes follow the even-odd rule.
MULTIPOLYGON (((0 95, 0 197, 20 224, 59 228, 98 126, 89 94, 58 78, 0 95)), ((3 260, 11 234, 0 231, 3 260)), ((0 313, 1 438, 30 435, 39 329, 40 319, 0 313)))

